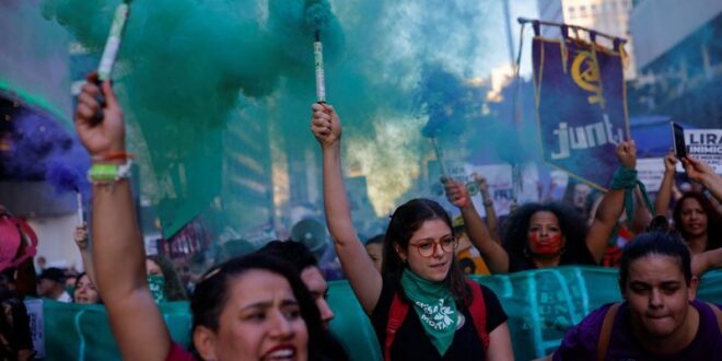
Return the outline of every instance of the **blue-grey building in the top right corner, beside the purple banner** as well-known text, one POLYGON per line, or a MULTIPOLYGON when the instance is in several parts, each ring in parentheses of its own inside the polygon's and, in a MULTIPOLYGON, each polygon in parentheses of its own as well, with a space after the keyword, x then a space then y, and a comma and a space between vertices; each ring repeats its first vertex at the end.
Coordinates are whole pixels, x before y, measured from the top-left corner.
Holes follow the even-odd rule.
POLYGON ((637 1, 630 31, 640 75, 630 89, 630 107, 720 128, 722 2, 637 1))

